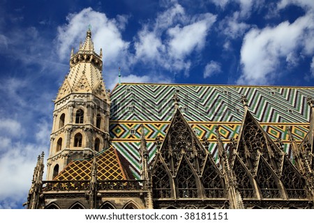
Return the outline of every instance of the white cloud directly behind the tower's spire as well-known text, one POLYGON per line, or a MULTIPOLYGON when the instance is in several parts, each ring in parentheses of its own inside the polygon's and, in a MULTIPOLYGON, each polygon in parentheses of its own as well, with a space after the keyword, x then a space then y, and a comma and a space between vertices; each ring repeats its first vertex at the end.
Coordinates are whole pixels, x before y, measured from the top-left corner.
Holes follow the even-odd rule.
POLYGON ((127 17, 119 16, 117 20, 110 20, 104 13, 84 8, 79 13, 68 15, 66 20, 68 24, 58 27, 57 50, 61 59, 70 57, 70 47, 77 50, 79 42, 85 39, 89 24, 92 26, 95 51, 103 48, 108 63, 126 54, 129 43, 122 40, 121 30, 124 29, 127 17))

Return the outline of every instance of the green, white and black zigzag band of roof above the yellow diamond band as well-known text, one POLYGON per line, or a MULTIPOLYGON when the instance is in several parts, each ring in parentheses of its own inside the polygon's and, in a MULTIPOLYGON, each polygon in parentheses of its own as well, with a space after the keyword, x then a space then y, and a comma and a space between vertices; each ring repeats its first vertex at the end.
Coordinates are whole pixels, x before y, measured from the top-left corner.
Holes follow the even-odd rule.
POLYGON ((179 95, 187 121, 241 122, 241 95, 246 95, 248 107, 259 122, 308 123, 306 98, 314 95, 314 88, 117 84, 111 95, 111 121, 170 121, 174 93, 179 95))

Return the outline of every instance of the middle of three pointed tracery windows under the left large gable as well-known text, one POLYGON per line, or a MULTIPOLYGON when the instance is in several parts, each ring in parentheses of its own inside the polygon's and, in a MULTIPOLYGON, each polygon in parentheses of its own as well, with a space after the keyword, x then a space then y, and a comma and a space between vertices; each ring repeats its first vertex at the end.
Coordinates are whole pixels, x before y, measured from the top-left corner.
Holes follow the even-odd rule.
POLYGON ((185 161, 181 164, 181 167, 177 174, 177 187, 179 197, 181 198, 196 198, 197 197, 197 185, 193 175, 193 171, 185 161))

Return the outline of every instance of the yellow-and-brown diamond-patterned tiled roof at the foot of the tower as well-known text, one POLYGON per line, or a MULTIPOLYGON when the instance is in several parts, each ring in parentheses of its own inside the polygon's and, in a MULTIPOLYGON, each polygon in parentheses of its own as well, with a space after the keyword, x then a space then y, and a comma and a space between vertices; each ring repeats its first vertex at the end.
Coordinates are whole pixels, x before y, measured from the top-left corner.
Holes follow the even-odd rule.
MULTIPOLYGON (((54 180, 90 180, 93 160, 70 162, 54 180)), ((96 157, 98 180, 125 180, 126 174, 121 166, 117 151, 109 148, 96 157)))

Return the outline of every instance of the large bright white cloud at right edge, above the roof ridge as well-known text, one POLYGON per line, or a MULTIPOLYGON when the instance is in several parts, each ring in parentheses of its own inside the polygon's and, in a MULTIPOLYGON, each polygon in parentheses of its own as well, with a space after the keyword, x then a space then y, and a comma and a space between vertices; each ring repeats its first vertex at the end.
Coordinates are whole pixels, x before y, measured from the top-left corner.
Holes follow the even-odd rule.
POLYGON ((291 55, 300 48, 312 54, 313 48, 305 40, 308 35, 314 38, 313 21, 312 15, 305 15, 292 24, 282 22, 246 33, 241 47, 243 74, 237 84, 271 84, 281 74, 278 68, 282 59, 291 62, 291 55))

